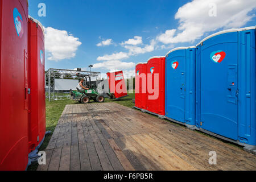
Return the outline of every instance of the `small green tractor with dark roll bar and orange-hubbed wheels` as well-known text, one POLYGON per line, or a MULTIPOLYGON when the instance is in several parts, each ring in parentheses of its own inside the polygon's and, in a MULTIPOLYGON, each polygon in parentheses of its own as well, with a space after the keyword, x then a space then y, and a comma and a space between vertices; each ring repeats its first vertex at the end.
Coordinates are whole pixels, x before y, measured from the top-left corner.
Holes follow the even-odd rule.
POLYGON ((91 84, 90 76, 89 75, 79 75, 79 76, 81 78, 82 77, 85 78, 87 88, 89 88, 89 90, 79 90, 78 88, 76 88, 77 90, 73 91, 72 89, 70 89, 71 99, 74 101, 79 101, 82 104, 87 104, 90 102, 90 100, 93 100, 95 102, 104 102, 105 97, 97 92, 97 85, 91 84), (89 78, 89 82, 87 78, 89 78))

